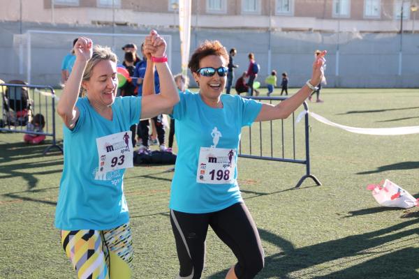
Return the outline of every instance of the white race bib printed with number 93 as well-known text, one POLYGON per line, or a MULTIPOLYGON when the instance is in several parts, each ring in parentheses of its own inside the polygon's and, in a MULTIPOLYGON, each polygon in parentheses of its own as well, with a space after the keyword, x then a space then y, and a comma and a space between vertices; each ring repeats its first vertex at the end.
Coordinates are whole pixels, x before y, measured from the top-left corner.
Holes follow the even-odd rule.
POLYGON ((133 143, 131 131, 106 135, 96 139, 99 156, 99 172, 112 172, 133 167, 133 143))

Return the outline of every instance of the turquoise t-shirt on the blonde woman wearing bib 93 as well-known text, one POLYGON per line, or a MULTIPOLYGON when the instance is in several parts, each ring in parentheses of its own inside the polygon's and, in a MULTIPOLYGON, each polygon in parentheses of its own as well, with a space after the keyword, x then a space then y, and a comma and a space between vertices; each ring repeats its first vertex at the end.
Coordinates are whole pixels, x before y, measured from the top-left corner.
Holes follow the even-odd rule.
POLYGON ((63 128, 64 169, 55 226, 64 230, 112 229, 129 219, 122 183, 125 169, 98 175, 96 138, 129 131, 138 123, 141 98, 115 98, 112 121, 98 114, 87 98, 79 98, 76 105, 80 116, 75 128, 63 128))

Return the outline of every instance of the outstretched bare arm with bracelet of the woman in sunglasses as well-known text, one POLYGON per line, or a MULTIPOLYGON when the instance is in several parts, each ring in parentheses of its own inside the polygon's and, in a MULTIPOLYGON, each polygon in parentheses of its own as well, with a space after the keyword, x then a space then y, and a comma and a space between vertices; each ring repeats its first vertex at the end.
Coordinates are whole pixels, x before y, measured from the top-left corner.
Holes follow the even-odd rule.
MULTIPOLYGON (((319 54, 314 60, 313 73, 311 75, 311 79, 309 80, 309 84, 311 84, 312 87, 317 86, 323 77, 323 64, 325 63, 325 54, 326 51, 323 50, 323 52, 321 52, 321 54, 319 54)), ((255 121, 286 119, 295 110, 297 110, 298 107, 300 107, 304 100, 309 97, 311 92, 313 92, 313 90, 307 84, 305 84, 302 86, 302 89, 295 93, 291 98, 283 100, 278 105, 263 103, 262 109, 260 110, 255 121)))

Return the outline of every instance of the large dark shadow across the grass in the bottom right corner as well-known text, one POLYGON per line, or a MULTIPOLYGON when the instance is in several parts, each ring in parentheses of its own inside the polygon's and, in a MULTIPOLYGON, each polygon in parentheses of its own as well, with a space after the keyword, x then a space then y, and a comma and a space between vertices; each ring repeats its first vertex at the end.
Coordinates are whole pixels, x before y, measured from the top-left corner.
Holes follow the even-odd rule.
MULTIPOLYGON (((281 236, 259 229, 260 238, 277 246, 279 252, 265 257, 265 268, 256 278, 291 278, 294 272, 298 272, 299 278, 417 278, 419 248, 411 247, 411 243, 418 243, 418 228, 407 227, 418 223, 416 218, 374 232, 302 248, 295 248, 293 243, 281 236), (409 236, 408 240, 402 239, 409 236), (395 245, 399 250, 391 247, 395 245), (335 260, 339 261, 337 265, 351 266, 327 276, 315 277, 323 271, 328 273, 336 266, 330 263, 335 260), (325 266, 315 267, 322 264, 325 266), (304 272, 304 269, 308 270, 304 272)), ((224 278, 227 271, 215 273, 209 278, 224 278)))

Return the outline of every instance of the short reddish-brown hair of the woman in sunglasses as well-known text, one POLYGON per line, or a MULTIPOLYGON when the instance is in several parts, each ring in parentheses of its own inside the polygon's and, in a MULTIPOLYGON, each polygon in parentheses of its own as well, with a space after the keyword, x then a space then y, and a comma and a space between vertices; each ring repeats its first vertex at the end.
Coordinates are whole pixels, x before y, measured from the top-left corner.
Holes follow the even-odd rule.
POLYGON ((192 73, 196 73, 199 69, 201 59, 210 55, 223 56, 224 59, 226 59, 226 62, 228 62, 226 47, 223 47, 219 40, 205 40, 205 42, 201 43, 195 52, 193 52, 191 60, 189 60, 188 63, 188 68, 192 73))

